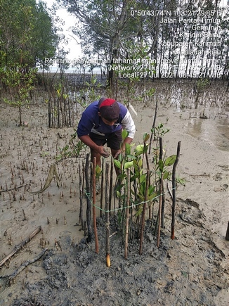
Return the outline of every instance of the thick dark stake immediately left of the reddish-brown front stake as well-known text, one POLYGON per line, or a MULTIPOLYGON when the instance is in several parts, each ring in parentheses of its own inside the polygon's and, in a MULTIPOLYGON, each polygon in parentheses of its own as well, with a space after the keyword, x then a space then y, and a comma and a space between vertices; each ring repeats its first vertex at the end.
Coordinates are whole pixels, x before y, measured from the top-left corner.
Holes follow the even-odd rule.
POLYGON ((86 180, 86 225, 88 229, 88 237, 86 241, 91 242, 91 175, 89 174, 90 161, 89 153, 86 154, 85 164, 85 180, 86 180))

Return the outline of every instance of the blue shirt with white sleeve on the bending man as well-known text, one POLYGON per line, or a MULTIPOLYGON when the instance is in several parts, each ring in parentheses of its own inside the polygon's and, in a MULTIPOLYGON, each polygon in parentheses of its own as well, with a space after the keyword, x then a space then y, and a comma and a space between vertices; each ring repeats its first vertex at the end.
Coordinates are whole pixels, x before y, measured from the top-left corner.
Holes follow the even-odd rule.
POLYGON ((122 103, 119 103, 119 108, 120 113, 117 122, 115 122, 114 125, 106 125, 98 115, 98 101, 91 103, 86 110, 84 110, 81 120, 79 120, 77 128, 78 137, 88 135, 90 132, 107 136, 119 129, 126 129, 126 131, 129 132, 129 137, 133 139, 136 127, 131 114, 122 103))

